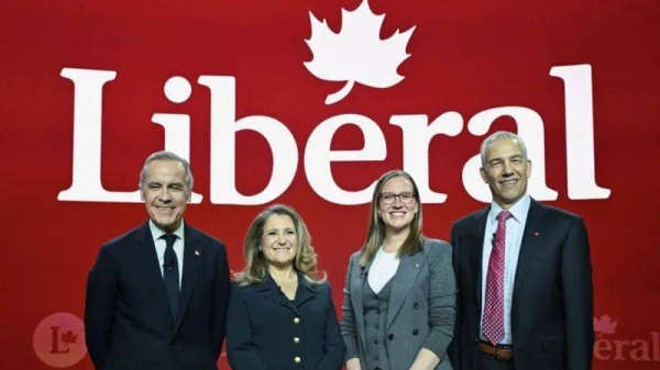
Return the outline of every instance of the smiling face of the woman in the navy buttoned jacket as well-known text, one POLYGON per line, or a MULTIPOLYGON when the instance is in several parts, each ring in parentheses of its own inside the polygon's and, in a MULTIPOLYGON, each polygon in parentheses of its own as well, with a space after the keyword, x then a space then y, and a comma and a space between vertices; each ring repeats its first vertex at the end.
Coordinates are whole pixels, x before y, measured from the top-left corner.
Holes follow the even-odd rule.
POLYGON ((264 224, 261 249, 268 265, 283 268, 294 264, 298 251, 296 225, 286 214, 272 214, 264 224))

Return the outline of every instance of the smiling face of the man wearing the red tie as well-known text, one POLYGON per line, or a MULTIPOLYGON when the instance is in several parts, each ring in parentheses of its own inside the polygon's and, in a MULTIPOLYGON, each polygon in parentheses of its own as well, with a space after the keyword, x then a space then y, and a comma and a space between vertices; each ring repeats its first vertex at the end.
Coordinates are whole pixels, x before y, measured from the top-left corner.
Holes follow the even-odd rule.
POLYGON ((485 159, 482 179, 491 188, 493 201, 508 210, 527 192, 531 162, 524 158, 520 144, 508 137, 491 143, 485 159))

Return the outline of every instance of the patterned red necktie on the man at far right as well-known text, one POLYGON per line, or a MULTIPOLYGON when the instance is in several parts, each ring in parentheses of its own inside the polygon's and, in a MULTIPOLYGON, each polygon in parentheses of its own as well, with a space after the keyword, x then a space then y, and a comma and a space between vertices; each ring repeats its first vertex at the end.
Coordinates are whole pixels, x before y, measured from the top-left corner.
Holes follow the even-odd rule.
POLYGON ((486 276, 486 301, 482 330, 493 345, 504 339, 504 246, 506 242, 506 221, 513 215, 508 211, 497 214, 497 231, 493 239, 493 250, 488 260, 486 276))

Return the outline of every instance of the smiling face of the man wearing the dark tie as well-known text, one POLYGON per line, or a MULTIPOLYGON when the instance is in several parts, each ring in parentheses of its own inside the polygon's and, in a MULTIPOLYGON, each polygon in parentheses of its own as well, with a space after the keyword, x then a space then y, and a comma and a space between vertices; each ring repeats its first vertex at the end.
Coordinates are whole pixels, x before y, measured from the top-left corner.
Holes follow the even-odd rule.
POLYGON ((152 222, 165 233, 182 225, 190 190, 186 186, 186 169, 177 160, 153 160, 146 166, 140 194, 152 222))

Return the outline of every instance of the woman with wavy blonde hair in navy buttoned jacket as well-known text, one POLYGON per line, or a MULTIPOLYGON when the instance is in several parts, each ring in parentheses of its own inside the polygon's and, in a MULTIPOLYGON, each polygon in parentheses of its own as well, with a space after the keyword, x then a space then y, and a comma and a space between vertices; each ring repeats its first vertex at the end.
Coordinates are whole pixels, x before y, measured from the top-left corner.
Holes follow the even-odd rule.
POLYGON ((248 229, 245 268, 229 302, 227 352, 234 370, 339 370, 344 344, 327 277, 295 210, 273 205, 248 229))

